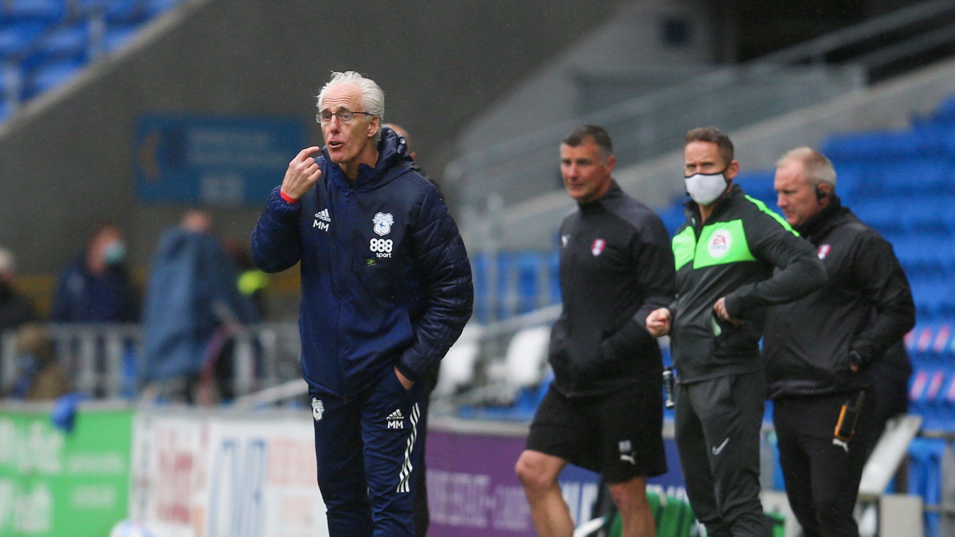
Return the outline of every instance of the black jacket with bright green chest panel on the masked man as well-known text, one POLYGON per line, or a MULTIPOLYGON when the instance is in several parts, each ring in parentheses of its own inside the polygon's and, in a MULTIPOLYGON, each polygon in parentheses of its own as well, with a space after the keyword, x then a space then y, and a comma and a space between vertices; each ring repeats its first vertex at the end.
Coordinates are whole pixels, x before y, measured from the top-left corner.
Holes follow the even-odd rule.
POLYGON ((758 371, 765 307, 801 298, 826 283, 813 248, 779 215, 743 193, 724 194, 701 225, 687 203, 688 222, 673 237, 676 301, 670 305, 670 349, 683 383, 758 371), (773 274, 773 269, 782 269, 773 274), (713 304, 726 297, 730 318, 713 304))

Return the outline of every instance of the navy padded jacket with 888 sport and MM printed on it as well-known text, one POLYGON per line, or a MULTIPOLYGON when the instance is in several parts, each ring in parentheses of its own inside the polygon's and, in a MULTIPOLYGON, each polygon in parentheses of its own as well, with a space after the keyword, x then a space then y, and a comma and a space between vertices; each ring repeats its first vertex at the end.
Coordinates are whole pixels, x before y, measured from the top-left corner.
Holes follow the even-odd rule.
POLYGON ((435 185, 387 127, 378 151, 351 186, 323 149, 318 183, 297 204, 275 188, 252 233, 260 269, 301 262, 302 373, 340 397, 393 366, 417 379, 448 352, 474 304, 467 251, 435 185))

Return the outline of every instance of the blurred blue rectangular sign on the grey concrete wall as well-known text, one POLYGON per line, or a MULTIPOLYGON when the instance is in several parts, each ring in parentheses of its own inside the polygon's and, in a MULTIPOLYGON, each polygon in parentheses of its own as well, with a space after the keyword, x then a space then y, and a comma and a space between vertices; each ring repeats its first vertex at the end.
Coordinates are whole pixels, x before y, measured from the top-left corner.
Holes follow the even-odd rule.
POLYGON ((263 204, 306 146, 297 119, 144 116, 134 141, 137 197, 150 204, 263 204))

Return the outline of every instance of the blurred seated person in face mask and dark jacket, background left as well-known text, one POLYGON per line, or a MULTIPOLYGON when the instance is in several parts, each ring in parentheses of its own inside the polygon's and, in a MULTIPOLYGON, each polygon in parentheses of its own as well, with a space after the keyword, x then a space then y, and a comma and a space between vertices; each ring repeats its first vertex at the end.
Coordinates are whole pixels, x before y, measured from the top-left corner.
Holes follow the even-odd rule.
POLYGON ((139 300, 126 270, 126 245, 115 224, 96 228, 63 270, 53 295, 56 323, 135 323, 139 300))

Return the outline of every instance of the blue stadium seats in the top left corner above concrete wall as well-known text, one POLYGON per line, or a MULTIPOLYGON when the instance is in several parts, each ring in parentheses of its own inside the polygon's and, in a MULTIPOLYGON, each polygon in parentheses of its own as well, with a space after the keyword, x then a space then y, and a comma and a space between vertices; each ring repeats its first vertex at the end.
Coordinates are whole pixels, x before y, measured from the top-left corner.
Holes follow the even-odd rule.
POLYGON ((0 3, 0 121, 22 102, 117 52, 182 0, 11 0, 0 3))

